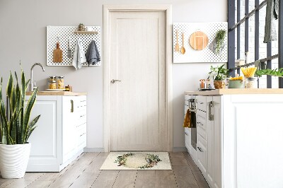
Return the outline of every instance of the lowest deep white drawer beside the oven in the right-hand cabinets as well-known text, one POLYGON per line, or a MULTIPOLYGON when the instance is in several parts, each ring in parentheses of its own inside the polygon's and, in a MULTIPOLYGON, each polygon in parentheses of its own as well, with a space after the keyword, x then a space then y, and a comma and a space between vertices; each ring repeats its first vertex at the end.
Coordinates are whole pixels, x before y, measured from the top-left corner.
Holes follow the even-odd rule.
POLYGON ((197 134, 197 166, 203 175, 207 172, 207 141, 197 134))

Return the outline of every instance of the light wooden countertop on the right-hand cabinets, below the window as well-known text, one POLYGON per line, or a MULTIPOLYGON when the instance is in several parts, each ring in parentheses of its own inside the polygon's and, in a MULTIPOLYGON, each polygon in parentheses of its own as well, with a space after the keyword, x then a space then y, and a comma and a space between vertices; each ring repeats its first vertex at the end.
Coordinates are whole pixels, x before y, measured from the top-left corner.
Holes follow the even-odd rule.
POLYGON ((219 89, 205 91, 185 91, 187 95, 241 95, 241 94, 283 94, 283 89, 219 89))

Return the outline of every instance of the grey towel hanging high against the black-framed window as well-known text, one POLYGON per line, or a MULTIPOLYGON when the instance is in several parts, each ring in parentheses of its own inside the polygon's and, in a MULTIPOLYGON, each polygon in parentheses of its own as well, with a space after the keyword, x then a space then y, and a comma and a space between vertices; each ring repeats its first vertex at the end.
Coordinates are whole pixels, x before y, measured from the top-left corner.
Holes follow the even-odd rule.
POLYGON ((265 38, 263 42, 277 40, 275 20, 278 19, 279 0, 267 0, 265 16, 265 38))

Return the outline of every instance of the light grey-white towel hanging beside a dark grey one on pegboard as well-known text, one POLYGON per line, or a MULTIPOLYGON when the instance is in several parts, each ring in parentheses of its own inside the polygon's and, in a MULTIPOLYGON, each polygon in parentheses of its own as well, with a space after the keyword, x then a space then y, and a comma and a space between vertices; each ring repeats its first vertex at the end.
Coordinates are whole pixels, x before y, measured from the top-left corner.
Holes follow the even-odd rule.
POLYGON ((74 57, 73 57, 73 66, 76 70, 81 69, 83 63, 86 62, 86 56, 83 52, 83 46, 81 45, 81 41, 78 39, 76 41, 75 49, 74 49, 74 57))

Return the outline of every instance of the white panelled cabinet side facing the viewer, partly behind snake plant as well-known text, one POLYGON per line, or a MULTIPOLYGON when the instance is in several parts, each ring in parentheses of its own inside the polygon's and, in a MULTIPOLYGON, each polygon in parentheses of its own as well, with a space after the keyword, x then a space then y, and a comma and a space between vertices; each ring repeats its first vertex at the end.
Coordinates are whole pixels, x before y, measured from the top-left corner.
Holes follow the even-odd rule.
MULTIPOLYGON (((25 104, 29 98, 26 96, 25 104)), ((39 114, 37 127, 28 139, 31 149, 26 172, 59 172, 59 164, 62 163, 61 147, 58 145, 61 139, 61 96, 37 95, 30 121, 39 114)))

